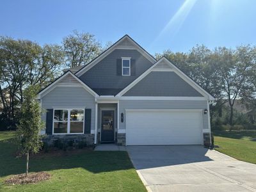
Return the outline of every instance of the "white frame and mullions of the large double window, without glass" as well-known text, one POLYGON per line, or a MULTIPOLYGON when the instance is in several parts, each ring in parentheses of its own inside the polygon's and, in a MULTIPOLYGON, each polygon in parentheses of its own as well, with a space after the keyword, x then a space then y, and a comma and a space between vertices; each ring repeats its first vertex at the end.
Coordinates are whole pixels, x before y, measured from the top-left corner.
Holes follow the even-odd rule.
POLYGON ((84 111, 84 115, 85 115, 85 110, 84 109, 79 109, 79 108, 56 108, 53 109, 53 114, 52 114, 52 134, 84 134, 84 117, 83 116, 83 121, 70 121, 70 111, 72 110, 83 110, 84 111), (67 121, 54 121, 54 111, 55 110, 66 110, 68 111, 68 120, 67 121), (67 122, 67 133, 54 133, 54 122, 67 122), (70 132, 70 122, 83 122, 83 132, 70 132))

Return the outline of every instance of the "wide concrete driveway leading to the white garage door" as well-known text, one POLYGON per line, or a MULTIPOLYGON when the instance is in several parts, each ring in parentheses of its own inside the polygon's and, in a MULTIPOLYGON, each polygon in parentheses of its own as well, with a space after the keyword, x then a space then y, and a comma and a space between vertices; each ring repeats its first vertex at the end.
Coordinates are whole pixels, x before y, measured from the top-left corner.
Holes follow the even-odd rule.
POLYGON ((148 191, 256 191, 256 165, 202 146, 129 146, 148 191))

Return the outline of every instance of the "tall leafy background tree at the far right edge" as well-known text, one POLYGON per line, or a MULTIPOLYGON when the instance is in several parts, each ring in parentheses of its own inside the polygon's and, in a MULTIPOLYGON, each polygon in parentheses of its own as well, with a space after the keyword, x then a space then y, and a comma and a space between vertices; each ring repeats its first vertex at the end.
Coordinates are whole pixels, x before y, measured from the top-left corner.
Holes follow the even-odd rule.
POLYGON ((230 108, 229 124, 233 125, 234 104, 237 98, 248 97, 253 92, 252 76, 255 55, 249 45, 237 47, 234 51, 225 47, 215 50, 220 65, 221 92, 230 108), (247 96, 246 96, 247 95, 247 96))

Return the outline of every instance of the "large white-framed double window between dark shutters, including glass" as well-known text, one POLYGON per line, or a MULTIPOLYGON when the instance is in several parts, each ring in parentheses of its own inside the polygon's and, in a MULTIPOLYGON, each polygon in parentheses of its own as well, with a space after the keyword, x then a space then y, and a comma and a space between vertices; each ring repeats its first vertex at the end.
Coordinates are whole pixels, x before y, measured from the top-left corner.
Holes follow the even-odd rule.
POLYGON ((53 134, 84 132, 84 109, 54 109, 53 134))

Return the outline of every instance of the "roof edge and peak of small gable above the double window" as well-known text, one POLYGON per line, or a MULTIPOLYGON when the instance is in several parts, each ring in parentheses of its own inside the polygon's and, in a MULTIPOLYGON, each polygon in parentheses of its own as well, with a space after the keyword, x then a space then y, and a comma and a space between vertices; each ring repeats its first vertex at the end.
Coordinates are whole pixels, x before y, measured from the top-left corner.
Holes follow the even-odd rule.
POLYGON ((91 93, 94 97, 99 97, 89 86, 83 83, 77 76, 75 76, 70 70, 65 72, 62 76, 58 77, 51 84, 37 93, 37 99, 41 99, 47 93, 51 92, 56 86, 82 86, 86 91, 91 93))

